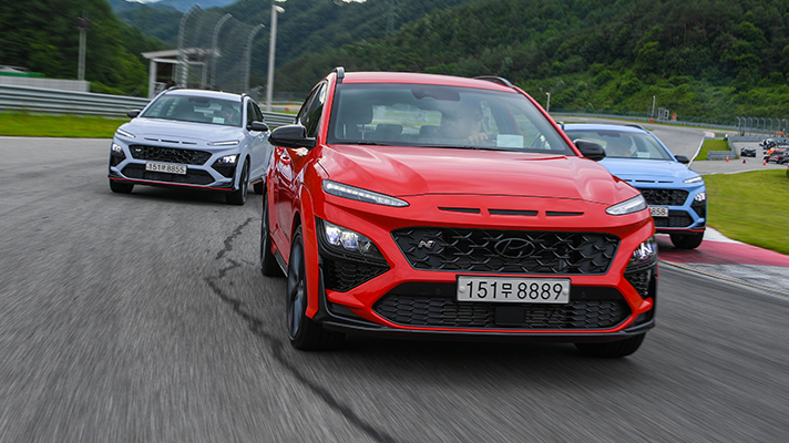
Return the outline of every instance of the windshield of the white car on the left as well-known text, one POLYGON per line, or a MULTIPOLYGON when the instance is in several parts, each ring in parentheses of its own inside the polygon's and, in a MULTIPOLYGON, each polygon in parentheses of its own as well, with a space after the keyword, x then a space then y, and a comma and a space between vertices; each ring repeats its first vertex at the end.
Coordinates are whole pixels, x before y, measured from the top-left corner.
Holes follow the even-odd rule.
POLYGON ((176 120, 181 122, 211 123, 224 126, 240 126, 239 101, 189 96, 162 95, 141 115, 147 119, 176 120))

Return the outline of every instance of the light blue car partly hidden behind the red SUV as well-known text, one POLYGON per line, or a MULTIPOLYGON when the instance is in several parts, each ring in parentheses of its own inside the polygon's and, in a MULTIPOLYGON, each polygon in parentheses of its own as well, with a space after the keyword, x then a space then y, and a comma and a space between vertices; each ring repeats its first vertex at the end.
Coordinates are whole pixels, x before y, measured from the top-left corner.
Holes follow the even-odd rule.
POLYGON ((655 229, 679 249, 698 247, 707 225, 704 178, 687 167, 649 131, 636 125, 565 124, 570 140, 583 138, 605 150, 600 162, 612 175, 638 188, 649 204, 655 229))

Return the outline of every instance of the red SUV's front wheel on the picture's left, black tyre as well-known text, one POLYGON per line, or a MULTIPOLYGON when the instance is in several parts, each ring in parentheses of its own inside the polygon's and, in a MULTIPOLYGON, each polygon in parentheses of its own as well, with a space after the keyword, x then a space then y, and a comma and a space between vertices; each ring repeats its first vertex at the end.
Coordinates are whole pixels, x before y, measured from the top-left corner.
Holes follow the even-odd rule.
POLYGON ((305 351, 337 348, 342 342, 345 334, 327 331, 306 315, 307 277, 305 275, 304 260, 301 228, 298 228, 290 247, 290 262, 288 265, 286 312, 290 344, 305 351))

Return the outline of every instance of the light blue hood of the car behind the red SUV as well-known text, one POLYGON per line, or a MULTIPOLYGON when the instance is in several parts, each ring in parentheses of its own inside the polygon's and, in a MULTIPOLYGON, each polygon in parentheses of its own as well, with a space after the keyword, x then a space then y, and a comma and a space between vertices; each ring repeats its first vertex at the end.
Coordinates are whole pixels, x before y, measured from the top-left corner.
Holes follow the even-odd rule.
POLYGON ((600 162, 613 175, 639 183, 683 183, 698 174, 679 162, 638 158, 604 158, 600 162))

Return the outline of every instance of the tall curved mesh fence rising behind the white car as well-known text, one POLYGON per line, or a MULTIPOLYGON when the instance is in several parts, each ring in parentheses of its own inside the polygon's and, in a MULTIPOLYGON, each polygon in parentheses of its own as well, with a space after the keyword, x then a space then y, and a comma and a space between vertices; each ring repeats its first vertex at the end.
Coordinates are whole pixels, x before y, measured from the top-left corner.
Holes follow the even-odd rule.
POLYGON ((192 7, 178 27, 178 86, 249 92, 252 42, 263 25, 250 27, 230 14, 192 7))

